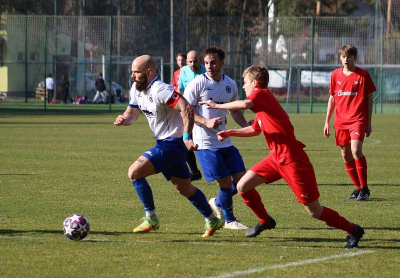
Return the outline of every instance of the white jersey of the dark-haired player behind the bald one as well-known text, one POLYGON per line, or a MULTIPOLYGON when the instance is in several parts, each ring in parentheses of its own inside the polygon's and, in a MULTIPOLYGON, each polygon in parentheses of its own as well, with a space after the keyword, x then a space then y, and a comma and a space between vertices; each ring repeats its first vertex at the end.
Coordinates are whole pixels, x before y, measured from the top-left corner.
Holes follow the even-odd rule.
POLYGON ((225 130, 226 110, 211 109, 208 105, 198 105, 199 101, 212 99, 216 103, 226 103, 237 100, 236 83, 222 74, 219 82, 213 80, 203 73, 191 80, 184 89, 184 98, 189 104, 196 108, 197 113, 206 118, 221 117, 222 124, 217 128, 208 128, 200 124, 194 124, 193 142, 198 144, 199 149, 205 148, 221 148, 231 146, 232 142, 229 138, 218 141, 216 133, 225 130))

